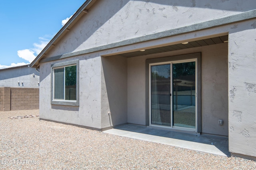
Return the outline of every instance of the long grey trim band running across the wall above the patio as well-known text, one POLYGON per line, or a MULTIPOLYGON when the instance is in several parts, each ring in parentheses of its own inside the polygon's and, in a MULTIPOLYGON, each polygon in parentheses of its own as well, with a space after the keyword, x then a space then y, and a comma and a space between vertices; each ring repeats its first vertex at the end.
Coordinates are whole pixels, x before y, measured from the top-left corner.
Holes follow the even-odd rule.
POLYGON ((93 52, 102 51, 102 50, 106 50, 106 49, 112 49, 115 47, 132 45, 132 44, 142 43, 142 42, 150 41, 150 40, 154 40, 154 39, 160 39, 160 38, 170 37, 170 36, 174 36, 174 35, 190 33, 190 32, 199 31, 199 30, 203 30, 203 29, 209 29, 209 28, 218 27, 218 26, 222 26, 222 25, 228 25, 228 24, 236 23, 236 22, 240 22, 240 21, 251 20, 254 18, 256 18, 256 10, 250 10, 247 12, 242 12, 239 14, 234 14, 232 16, 226 16, 223 18, 215 19, 215 20, 204 21, 201 23, 196 23, 196 24, 192 24, 192 25, 188 25, 188 26, 184 26, 184 27, 179 27, 179 28, 170 29, 167 31, 162 31, 159 33, 154 33, 154 34, 145 35, 142 37, 127 39, 124 41, 111 43, 111 44, 107 44, 107 45, 102 45, 102 46, 94 47, 94 48, 90 48, 90 49, 85 49, 82 51, 77 51, 77 52, 72 52, 72 53, 67 53, 67 54, 63 54, 63 55, 46 58, 46 59, 41 59, 39 61, 39 63, 45 63, 45 62, 49 62, 49 61, 55 61, 58 59, 64 59, 64 58, 68 58, 68 57, 74 57, 74 56, 83 55, 83 54, 87 54, 87 53, 93 53, 93 52))

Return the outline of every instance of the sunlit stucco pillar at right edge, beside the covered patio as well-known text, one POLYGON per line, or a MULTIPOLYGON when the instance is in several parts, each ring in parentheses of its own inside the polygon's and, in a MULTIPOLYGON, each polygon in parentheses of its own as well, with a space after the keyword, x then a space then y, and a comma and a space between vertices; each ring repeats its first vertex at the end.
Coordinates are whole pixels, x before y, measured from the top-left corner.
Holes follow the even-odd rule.
POLYGON ((229 149, 256 156, 256 20, 230 30, 228 51, 229 149))

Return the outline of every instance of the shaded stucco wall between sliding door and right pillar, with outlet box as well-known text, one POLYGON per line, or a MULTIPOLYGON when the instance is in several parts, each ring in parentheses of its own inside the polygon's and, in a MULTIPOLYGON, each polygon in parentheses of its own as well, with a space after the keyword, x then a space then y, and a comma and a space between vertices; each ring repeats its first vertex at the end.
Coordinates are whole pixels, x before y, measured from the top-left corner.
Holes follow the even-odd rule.
POLYGON ((228 136, 228 43, 202 51, 202 133, 228 136))

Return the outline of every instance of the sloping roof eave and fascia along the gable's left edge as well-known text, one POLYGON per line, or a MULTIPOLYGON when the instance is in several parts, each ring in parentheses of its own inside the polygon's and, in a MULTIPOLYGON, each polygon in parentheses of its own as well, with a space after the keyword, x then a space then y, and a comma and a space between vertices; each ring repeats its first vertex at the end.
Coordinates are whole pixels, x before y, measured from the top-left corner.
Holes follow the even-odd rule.
POLYGON ((36 66, 35 64, 40 61, 43 57, 44 53, 56 42, 56 40, 67 30, 69 31, 68 27, 76 20, 79 19, 78 16, 84 15, 88 13, 88 9, 94 4, 96 0, 86 0, 84 4, 76 11, 76 13, 68 20, 68 22, 60 29, 60 31, 53 37, 53 39, 44 47, 40 54, 30 63, 30 67, 36 66))

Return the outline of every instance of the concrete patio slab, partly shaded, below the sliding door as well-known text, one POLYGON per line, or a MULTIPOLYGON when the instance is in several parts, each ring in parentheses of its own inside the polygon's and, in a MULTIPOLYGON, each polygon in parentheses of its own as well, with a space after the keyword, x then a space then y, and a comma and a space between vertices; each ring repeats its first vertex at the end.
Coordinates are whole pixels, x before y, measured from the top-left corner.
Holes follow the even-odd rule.
POLYGON ((230 156, 227 137, 176 132, 169 129, 134 124, 120 125, 103 132, 216 155, 230 156))

